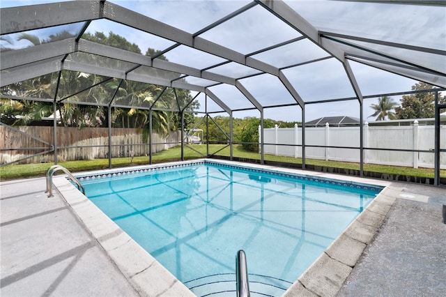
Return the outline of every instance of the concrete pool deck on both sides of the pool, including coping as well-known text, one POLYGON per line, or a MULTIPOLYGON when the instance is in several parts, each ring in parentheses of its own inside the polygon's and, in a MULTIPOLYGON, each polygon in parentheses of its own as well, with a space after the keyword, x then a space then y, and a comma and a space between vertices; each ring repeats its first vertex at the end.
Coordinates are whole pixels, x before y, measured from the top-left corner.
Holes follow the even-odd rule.
MULTIPOLYGON (((283 170, 388 186, 287 296, 446 295, 445 188, 283 170)), ((65 178, 54 184, 71 206, 58 191, 47 198, 45 178, 0 182, 1 296, 192 296, 65 178)))

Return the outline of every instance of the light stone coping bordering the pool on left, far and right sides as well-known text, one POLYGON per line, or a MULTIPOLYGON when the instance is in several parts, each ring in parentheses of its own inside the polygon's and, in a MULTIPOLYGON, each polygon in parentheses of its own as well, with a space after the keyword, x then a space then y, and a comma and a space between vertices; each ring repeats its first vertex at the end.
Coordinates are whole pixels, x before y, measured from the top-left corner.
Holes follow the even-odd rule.
MULTIPOLYGON (((84 172, 75 176, 105 176, 126 172, 152 171, 158 167, 183 167, 185 164, 212 162, 222 165, 266 169, 272 172, 300 174, 326 180, 327 178, 347 183, 375 185, 384 189, 321 254, 283 296, 334 296, 341 289, 364 249, 380 229, 387 212, 401 194, 402 188, 391 186, 390 181, 372 180, 354 176, 340 176, 323 172, 308 172, 301 169, 280 168, 272 165, 246 164, 243 162, 199 159, 184 162, 169 162, 119 169, 84 172)), ((124 174, 123 174, 124 175, 124 174)), ((182 282, 167 271, 154 257, 134 241, 110 218, 102 213, 87 197, 75 188, 66 176, 54 177, 54 186, 72 208, 75 215, 89 230, 93 238, 104 248, 108 256, 129 280, 141 296, 195 296, 182 282)), ((234 256, 235 257, 235 256, 234 256)))

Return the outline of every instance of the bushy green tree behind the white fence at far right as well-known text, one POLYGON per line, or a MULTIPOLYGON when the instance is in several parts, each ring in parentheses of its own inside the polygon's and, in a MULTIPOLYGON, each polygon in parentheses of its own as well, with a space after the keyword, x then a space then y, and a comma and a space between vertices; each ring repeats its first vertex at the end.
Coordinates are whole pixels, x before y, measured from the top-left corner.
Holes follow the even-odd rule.
MULTIPOLYGON (((433 89, 425 82, 412 86, 413 91, 433 89)), ((446 104, 446 96, 438 96, 440 104, 446 104)), ((397 119, 428 119, 435 116, 435 93, 415 93, 401 98, 401 107, 395 108, 397 119)))

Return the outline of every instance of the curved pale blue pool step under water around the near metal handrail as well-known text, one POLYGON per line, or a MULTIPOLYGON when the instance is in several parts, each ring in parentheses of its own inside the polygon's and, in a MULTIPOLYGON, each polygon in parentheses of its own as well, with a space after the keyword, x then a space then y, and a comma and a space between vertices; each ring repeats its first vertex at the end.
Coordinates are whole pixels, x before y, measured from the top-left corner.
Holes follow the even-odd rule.
MULTIPOLYGON (((251 296, 282 296, 291 282, 266 275, 249 274, 251 296)), ((185 285, 197 296, 236 296, 236 274, 224 273, 208 275, 185 282, 185 285)))

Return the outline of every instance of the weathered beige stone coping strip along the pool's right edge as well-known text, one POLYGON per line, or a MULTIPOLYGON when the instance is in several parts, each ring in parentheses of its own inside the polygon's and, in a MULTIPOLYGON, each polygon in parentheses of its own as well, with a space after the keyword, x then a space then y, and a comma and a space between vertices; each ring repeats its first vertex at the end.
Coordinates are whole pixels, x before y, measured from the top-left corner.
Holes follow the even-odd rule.
POLYGON ((401 188, 385 186, 283 296, 336 296, 401 192, 401 188))

